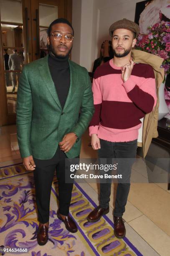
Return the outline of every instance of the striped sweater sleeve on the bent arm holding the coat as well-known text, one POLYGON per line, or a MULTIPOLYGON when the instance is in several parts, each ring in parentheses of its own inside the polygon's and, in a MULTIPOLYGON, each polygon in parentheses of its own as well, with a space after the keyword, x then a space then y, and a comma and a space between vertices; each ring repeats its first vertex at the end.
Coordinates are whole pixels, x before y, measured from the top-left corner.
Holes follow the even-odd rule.
POLYGON ((130 77, 122 85, 130 100, 145 114, 150 113, 156 105, 156 82, 151 66, 146 66, 146 77, 141 84, 136 84, 130 77))

